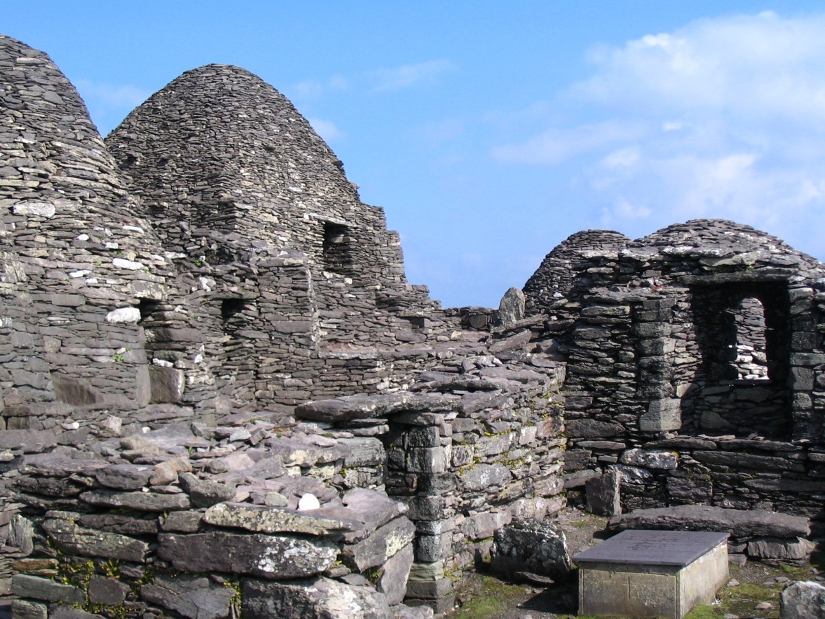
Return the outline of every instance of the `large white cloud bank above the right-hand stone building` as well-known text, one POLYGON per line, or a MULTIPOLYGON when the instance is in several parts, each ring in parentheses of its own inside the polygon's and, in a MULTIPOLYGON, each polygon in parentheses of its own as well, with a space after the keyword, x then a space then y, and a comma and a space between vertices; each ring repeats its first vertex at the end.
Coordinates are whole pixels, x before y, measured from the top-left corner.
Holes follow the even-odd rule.
MULTIPOLYGON (((629 234, 723 217, 810 240, 825 226, 823 32, 825 15, 764 12, 602 45, 544 126, 523 120, 533 136, 491 154, 554 165, 629 234)), ((825 254, 825 240, 811 243, 825 254)))

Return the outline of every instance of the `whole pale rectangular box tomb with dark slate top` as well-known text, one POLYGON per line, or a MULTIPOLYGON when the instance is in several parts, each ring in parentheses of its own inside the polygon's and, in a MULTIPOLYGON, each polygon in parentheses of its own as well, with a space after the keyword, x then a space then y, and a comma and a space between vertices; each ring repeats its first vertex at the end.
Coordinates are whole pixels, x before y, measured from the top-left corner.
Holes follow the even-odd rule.
POLYGON ((708 604, 728 579, 728 534, 624 531, 573 557, 578 614, 674 617, 708 604))

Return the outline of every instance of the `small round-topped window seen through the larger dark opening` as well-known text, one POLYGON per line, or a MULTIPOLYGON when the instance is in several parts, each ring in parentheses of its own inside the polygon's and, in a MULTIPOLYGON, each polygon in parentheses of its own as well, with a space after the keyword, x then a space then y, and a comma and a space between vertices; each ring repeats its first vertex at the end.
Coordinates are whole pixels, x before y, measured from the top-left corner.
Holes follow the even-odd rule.
POLYGON ((770 380, 765 306, 756 297, 747 296, 730 312, 735 342, 729 347, 737 380, 770 380))

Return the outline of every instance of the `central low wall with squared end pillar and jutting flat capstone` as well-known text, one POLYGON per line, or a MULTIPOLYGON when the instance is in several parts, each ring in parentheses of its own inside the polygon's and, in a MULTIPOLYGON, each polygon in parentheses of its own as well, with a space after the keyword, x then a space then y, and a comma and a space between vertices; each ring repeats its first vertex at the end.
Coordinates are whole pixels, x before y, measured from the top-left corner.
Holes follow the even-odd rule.
POLYGON ((445 612, 462 572, 489 559, 493 533, 542 520, 561 495, 564 366, 544 355, 452 357, 415 392, 299 406, 323 428, 379 437, 387 493, 416 526, 408 599, 445 612))

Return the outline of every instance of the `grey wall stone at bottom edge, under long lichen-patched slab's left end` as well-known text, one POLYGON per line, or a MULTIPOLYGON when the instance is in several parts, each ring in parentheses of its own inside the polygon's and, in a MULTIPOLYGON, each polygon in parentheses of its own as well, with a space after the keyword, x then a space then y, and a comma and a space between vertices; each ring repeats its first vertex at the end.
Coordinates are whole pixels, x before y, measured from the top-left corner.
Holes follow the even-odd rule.
POLYGON ((140 597, 189 619, 229 617, 229 602, 235 591, 207 578, 158 576, 140 587, 140 597))

